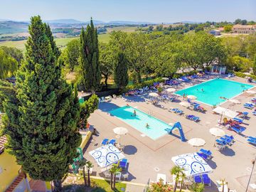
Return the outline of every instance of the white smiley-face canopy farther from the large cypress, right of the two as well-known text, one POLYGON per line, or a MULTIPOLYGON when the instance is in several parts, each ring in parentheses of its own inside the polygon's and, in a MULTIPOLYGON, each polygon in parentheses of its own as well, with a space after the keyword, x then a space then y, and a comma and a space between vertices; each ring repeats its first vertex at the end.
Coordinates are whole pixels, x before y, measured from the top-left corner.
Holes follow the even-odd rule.
POLYGON ((213 171, 205 160, 196 153, 182 154, 171 158, 176 166, 184 169, 186 176, 209 174, 213 171))

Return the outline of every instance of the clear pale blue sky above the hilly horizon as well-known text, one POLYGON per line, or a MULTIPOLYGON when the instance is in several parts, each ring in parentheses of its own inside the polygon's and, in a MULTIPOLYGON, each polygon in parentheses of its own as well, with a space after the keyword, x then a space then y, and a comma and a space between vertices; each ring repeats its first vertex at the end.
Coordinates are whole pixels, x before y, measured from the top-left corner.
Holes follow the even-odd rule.
POLYGON ((88 21, 256 21, 256 0, 0 0, 0 19, 88 21))

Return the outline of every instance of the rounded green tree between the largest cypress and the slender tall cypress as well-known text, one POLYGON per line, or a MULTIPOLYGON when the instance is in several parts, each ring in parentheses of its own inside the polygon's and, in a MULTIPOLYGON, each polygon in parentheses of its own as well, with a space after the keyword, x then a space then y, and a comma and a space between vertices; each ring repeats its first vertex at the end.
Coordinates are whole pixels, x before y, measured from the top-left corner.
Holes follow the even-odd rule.
POLYGON ((67 47, 65 48, 65 65, 70 68, 71 71, 74 70, 75 66, 79 65, 79 48, 80 41, 78 39, 73 39, 68 42, 67 47))

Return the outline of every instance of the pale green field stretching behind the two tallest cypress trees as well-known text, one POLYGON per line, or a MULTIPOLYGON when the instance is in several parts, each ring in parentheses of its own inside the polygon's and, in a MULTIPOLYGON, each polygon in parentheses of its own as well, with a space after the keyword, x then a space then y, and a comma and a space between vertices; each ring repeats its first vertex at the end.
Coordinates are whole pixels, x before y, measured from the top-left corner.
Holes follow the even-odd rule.
MULTIPOLYGON (((110 41, 110 34, 100 34, 99 36, 99 41, 103 42, 103 43, 107 43, 108 41, 110 41)), ((57 46, 60 46, 60 48, 65 48, 65 46, 67 45, 68 42, 70 42, 71 40, 78 38, 78 37, 74 37, 74 38, 55 38, 55 42, 57 44, 57 46)), ((25 50, 25 43, 26 40, 24 41, 1 41, 0 42, 0 46, 7 46, 7 47, 15 47, 15 48, 19 48, 21 50, 25 50)))

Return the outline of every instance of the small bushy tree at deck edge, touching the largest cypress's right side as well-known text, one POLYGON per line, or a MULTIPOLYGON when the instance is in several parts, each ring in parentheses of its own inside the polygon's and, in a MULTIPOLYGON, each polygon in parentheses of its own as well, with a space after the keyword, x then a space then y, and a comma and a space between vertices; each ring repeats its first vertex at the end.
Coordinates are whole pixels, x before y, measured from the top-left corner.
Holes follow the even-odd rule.
MULTIPOLYGON (((76 87, 76 85, 75 85, 76 87)), ((87 119, 90 117, 90 114, 97 110, 99 105, 99 98, 97 95, 92 95, 87 101, 83 102, 80 106, 80 121, 78 126, 80 129, 86 129, 87 119)))

